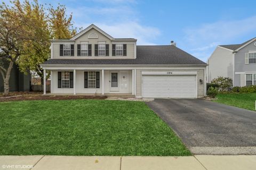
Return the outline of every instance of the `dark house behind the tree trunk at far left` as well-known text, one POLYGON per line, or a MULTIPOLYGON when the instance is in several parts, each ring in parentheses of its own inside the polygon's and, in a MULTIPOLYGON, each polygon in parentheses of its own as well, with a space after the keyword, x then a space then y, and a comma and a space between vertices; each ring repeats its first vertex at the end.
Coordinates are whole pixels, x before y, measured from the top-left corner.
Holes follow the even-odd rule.
MULTIPOLYGON (((9 62, 4 62, 4 68, 7 70, 9 62)), ((30 75, 23 74, 19 71, 18 65, 13 64, 10 79, 10 92, 13 91, 29 91, 30 90, 30 75)), ((4 92, 4 80, 0 74, 0 92, 4 92)))

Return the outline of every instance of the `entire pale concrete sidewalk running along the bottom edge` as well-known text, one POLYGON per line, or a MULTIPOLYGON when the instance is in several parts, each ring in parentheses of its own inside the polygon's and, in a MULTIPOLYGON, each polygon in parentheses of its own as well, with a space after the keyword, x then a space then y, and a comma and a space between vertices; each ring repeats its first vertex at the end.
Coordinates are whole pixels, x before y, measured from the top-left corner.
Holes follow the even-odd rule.
POLYGON ((156 156, 0 156, 0 169, 33 170, 144 170, 255 169, 256 155, 195 155, 187 157, 156 156))

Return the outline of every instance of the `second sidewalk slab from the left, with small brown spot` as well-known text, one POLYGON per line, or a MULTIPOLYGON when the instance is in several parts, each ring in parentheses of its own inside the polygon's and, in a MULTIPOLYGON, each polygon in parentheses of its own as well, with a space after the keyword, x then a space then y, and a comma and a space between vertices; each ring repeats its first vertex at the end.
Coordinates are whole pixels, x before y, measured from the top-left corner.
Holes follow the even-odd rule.
POLYGON ((120 170, 120 165, 119 156, 45 156, 33 170, 120 170))

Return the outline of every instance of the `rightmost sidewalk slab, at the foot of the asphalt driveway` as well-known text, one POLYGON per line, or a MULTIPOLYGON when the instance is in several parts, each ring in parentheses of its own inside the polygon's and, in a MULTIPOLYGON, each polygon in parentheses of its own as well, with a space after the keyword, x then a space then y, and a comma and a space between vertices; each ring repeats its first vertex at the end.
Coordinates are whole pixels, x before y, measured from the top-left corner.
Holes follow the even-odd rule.
POLYGON ((256 167, 256 155, 195 155, 208 170, 249 170, 256 167))

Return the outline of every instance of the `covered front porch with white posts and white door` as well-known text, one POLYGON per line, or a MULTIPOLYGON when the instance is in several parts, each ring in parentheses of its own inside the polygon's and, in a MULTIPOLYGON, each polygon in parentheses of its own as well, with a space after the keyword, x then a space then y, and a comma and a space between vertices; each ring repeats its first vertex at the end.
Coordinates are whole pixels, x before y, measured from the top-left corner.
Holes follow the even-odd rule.
MULTIPOLYGON (((50 70, 50 69, 49 69, 50 70)), ((51 93, 44 95, 135 97, 135 70, 51 69, 51 93)))

